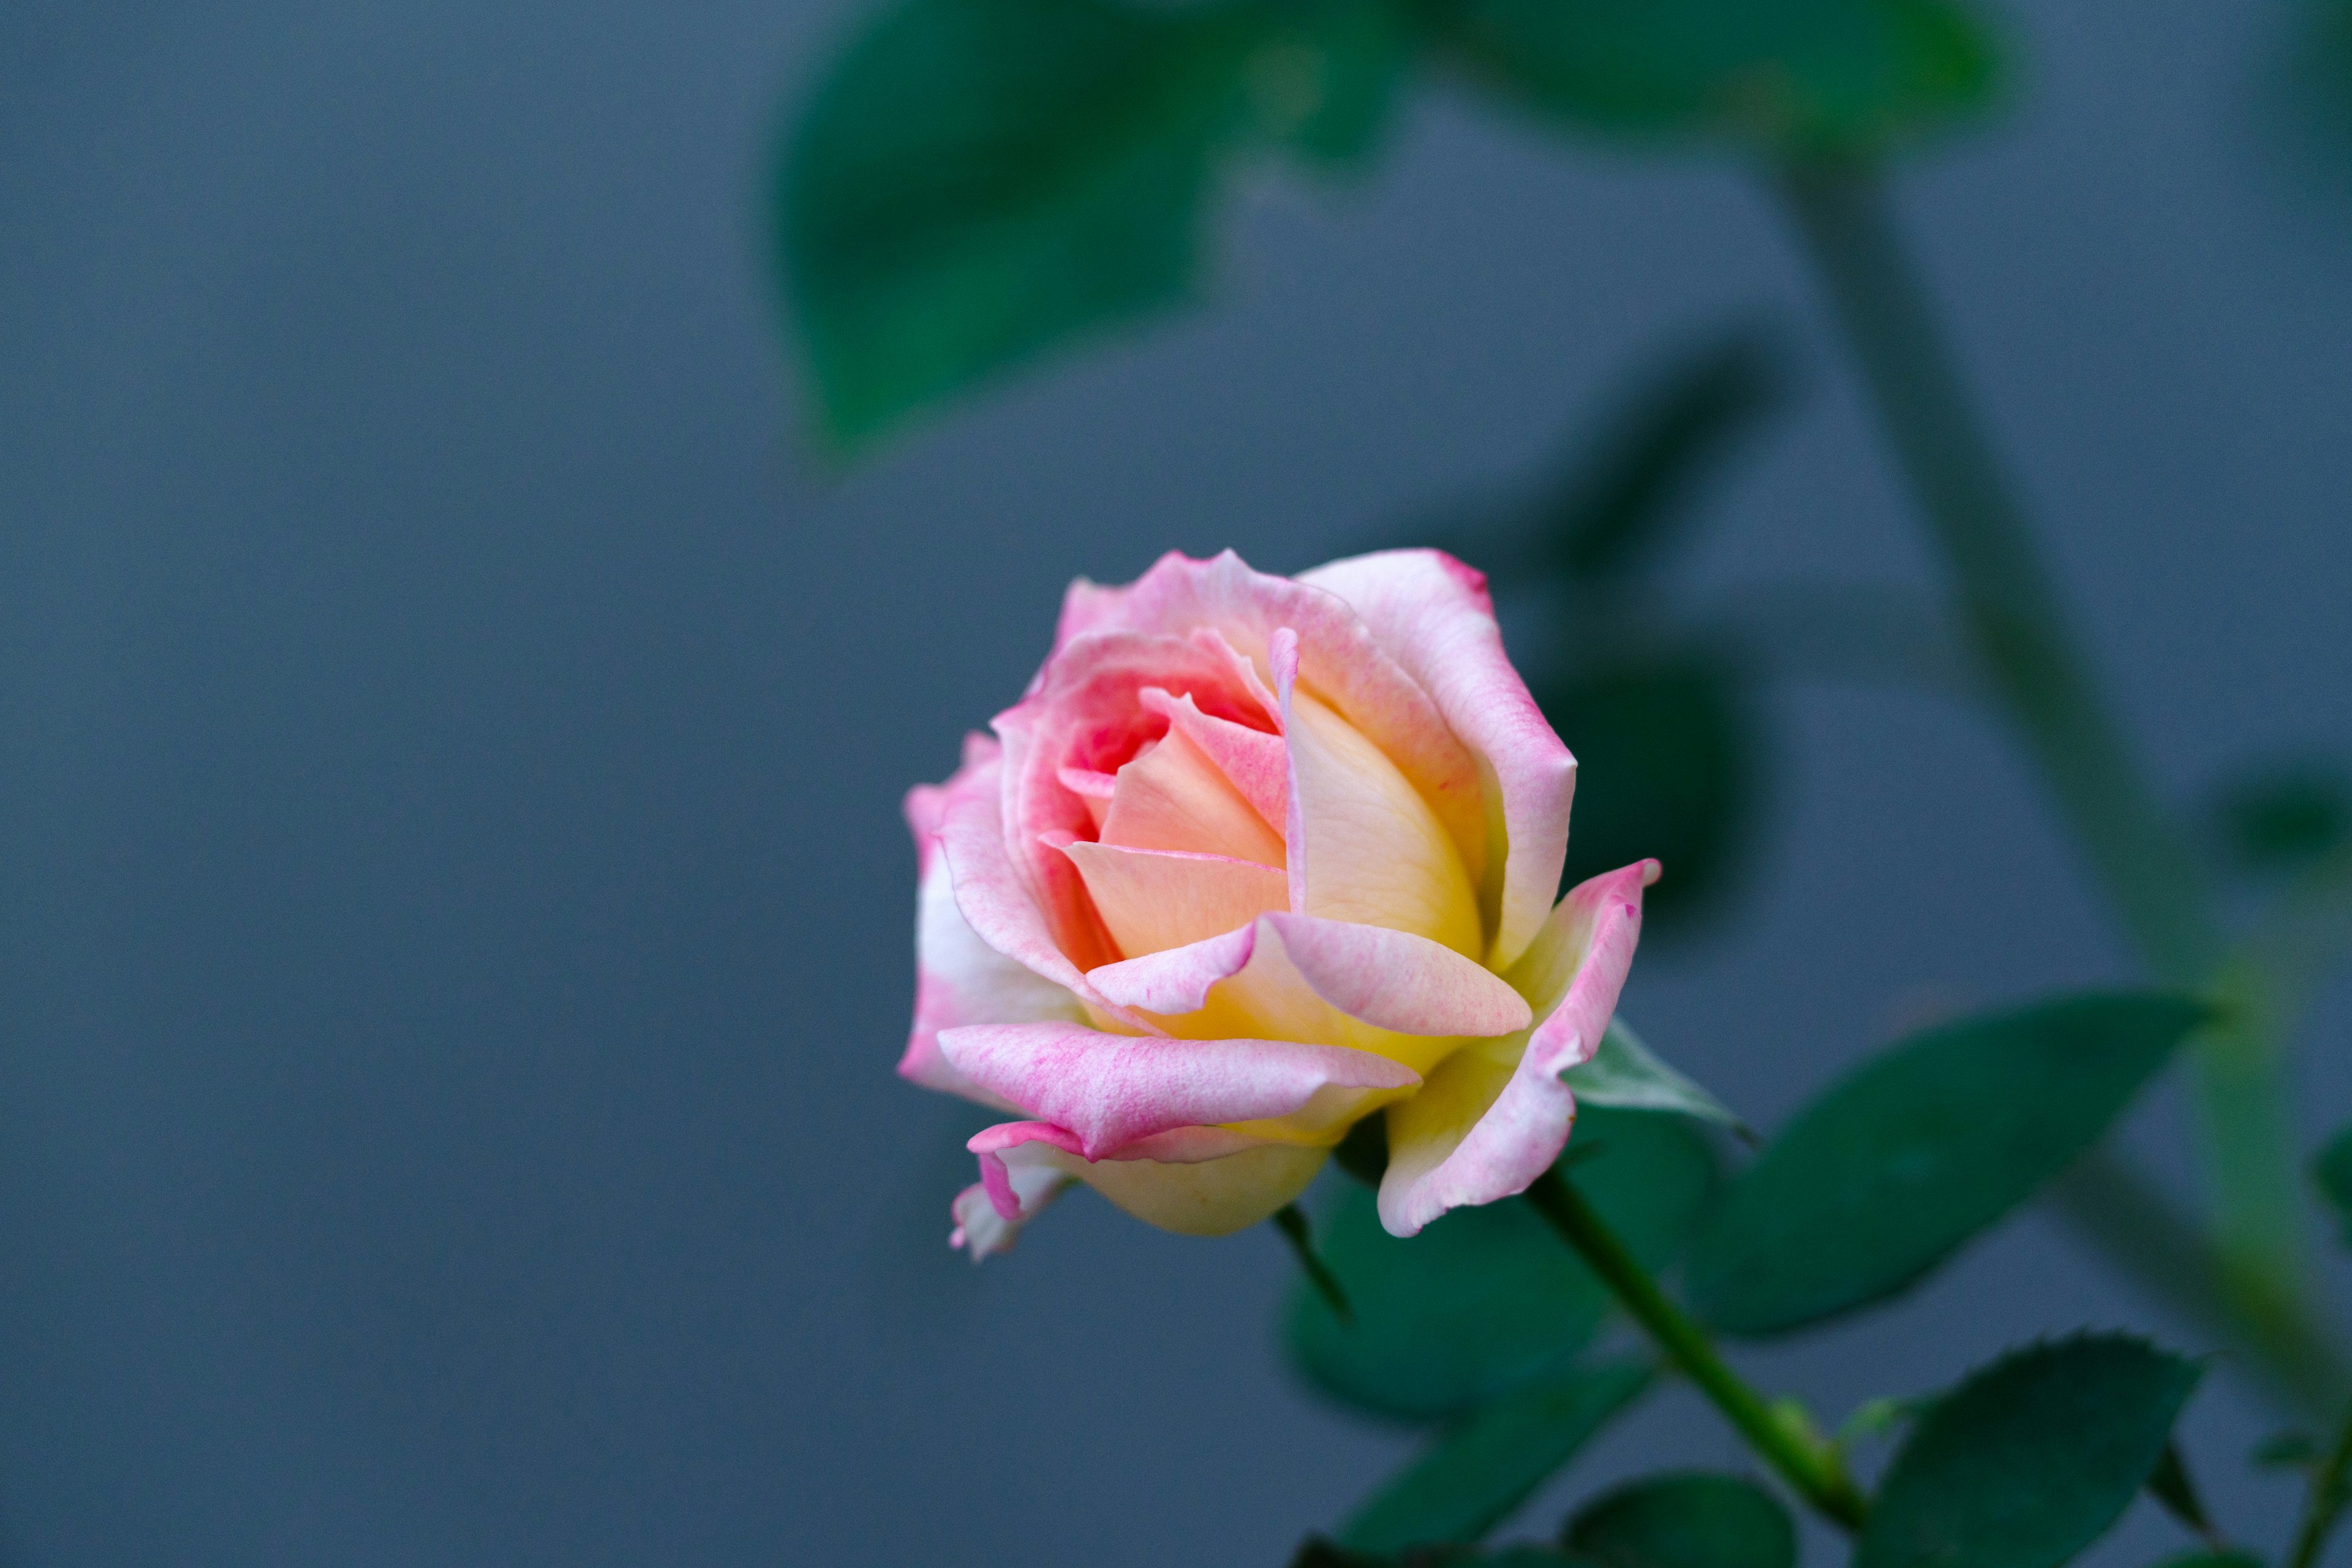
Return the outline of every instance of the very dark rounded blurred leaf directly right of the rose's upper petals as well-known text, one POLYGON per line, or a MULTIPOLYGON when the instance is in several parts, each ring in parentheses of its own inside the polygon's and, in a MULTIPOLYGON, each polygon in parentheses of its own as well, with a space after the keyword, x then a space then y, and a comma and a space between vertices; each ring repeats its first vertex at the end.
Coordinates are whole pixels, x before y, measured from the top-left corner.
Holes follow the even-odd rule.
POLYGON ((1762 743, 1729 665, 1661 658, 1538 679, 1536 703, 1576 752, 1564 884, 1656 858, 1651 933, 1710 907, 1736 879, 1762 795, 1762 743))

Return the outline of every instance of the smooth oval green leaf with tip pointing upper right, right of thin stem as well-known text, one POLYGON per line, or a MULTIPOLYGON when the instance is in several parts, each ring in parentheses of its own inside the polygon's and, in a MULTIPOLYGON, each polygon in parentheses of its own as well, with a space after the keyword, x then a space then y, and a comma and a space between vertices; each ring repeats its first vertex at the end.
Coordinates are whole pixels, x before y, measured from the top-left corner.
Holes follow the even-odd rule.
POLYGON ((1691 1300, 1762 1335, 1893 1295, 2098 1143, 2204 1018, 2178 997, 2091 994, 1912 1034, 1731 1187, 1693 1241, 1691 1300))

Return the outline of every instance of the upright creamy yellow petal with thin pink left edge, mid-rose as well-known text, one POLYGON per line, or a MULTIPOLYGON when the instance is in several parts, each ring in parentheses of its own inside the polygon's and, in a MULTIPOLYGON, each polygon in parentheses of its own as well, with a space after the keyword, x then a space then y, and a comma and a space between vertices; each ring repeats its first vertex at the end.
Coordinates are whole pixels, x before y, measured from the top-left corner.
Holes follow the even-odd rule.
POLYGON ((1291 910, 1484 952, 1470 872, 1428 802, 1352 724, 1298 689, 1289 630, 1275 632, 1272 661, 1291 757, 1291 910))

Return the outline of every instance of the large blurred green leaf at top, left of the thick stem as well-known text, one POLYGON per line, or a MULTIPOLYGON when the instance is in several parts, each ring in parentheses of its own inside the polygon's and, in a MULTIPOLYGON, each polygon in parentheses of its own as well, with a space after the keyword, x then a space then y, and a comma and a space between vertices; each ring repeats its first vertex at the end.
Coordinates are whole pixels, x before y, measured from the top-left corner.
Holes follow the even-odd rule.
POLYGON ((1237 158, 1364 150, 1388 0, 910 0, 821 82, 779 176, 828 433, 854 447, 1054 343, 1181 301, 1237 158))

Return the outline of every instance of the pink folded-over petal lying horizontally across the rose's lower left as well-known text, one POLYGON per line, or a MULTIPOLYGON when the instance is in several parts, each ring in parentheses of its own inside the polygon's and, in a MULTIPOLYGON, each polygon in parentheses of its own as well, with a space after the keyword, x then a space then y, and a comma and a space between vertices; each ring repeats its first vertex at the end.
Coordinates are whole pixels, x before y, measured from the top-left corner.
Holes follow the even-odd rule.
POLYGON ((1084 1159, 1178 1126, 1289 1117, 1327 1088, 1409 1088, 1369 1051, 1277 1039, 1157 1039, 1073 1023, 969 1025, 938 1048, 969 1081, 1077 1135, 1084 1159))

